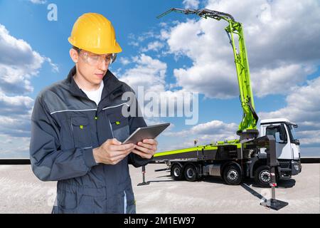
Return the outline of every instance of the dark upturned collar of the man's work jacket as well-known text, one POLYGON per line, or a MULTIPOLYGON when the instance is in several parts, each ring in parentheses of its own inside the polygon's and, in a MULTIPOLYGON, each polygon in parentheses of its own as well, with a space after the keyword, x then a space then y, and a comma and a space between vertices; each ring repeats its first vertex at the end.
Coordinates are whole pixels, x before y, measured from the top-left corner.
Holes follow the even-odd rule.
MULTIPOLYGON (((77 83, 75 83, 75 80, 73 79, 73 76, 76 73, 75 66, 70 70, 68 74, 67 81, 70 83, 70 93, 74 96, 78 96, 81 98, 87 98, 87 95, 79 88, 77 83)), ((107 95, 110 95, 110 99, 116 98, 119 95, 122 95, 124 93, 122 89, 122 82, 119 81, 111 71, 107 71, 103 78, 103 90, 101 95, 101 100, 107 97, 107 95), (111 93, 111 94, 110 94, 111 93)))

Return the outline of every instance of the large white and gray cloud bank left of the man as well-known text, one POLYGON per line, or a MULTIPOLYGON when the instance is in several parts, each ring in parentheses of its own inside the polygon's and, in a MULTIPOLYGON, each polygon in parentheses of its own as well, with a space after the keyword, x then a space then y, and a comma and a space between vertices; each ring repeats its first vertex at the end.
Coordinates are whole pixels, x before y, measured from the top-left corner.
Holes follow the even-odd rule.
MULTIPOLYGON (((41 4, 40 1, 33 3, 41 4)), ((59 69, 29 43, 11 36, 1 24, 0 53, 0 138, 6 138, 0 147, 0 157, 21 157, 28 151, 31 130, 33 99, 26 95, 33 91, 31 78, 38 76, 45 62, 53 72, 59 69)))

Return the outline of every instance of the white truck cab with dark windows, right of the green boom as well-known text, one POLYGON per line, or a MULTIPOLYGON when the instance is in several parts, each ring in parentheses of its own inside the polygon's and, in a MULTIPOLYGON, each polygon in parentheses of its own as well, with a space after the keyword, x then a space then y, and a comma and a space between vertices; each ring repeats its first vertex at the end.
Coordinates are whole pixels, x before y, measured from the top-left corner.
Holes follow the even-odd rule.
MULTIPOLYGON (((302 170, 300 162, 300 142, 294 128, 297 124, 285 118, 274 118, 260 121, 260 137, 273 135, 276 140, 278 178, 285 180, 297 175, 302 170)), ((267 154, 260 150, 259 159, 266 159, 267 154)))

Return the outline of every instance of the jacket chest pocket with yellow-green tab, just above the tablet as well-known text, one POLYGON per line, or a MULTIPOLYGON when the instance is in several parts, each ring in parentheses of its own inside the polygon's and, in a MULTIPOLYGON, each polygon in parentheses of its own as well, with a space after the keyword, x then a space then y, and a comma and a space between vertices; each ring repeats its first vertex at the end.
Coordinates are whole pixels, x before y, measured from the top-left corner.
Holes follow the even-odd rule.
POLYGON ((112 137, 123 142, 129 137, 129 121, 121 113, 108 115, 112 137))

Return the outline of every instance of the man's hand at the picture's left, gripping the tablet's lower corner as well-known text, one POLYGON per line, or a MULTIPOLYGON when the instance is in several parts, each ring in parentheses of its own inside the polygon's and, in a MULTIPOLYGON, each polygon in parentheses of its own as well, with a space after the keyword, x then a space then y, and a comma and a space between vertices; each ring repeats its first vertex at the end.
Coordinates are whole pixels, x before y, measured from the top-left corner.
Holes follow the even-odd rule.
POLYGON ((105 141, 100 147, 93 149, 93 157, 95 162, 109 165, 116 165, 124 157, 127 157, 137 145, 133 143, 124 144, 113 138, 105 141))

